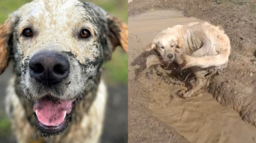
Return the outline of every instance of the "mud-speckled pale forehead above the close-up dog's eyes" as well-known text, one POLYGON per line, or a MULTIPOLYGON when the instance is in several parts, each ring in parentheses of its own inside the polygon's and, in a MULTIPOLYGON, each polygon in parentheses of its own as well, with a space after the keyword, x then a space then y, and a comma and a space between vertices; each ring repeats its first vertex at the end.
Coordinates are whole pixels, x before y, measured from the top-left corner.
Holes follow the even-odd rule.
MULTIPOLYGON (((77 23, 97 27, 97 15, 93 9, 76 0, 35 0, 20 8, 21 26, 28 23, 45 28, 58 26, 72 27, 77 23)), ((76 25, 75 25, 76 26, 76 25)))

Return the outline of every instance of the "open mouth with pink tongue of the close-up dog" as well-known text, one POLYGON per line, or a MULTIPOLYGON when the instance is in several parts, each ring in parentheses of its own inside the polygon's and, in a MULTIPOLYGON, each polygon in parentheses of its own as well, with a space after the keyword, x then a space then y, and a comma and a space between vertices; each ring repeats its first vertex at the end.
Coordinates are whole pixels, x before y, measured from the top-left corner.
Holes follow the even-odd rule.
POLYGON ((74 104, 80 101, 54 99, 51 96, 34 102, 34 117, 36 128, 43 137, 62 133, 71 122, 74 104))

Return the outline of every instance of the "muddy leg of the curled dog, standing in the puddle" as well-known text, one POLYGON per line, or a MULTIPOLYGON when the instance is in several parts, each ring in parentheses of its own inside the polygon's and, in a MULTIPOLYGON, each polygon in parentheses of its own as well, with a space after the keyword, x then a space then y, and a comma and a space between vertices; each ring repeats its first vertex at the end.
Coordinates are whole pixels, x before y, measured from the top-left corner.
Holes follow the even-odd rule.
POLYGON ((208 84, 207 82, 209 81, 209 79, 205 79, 205 75, 207 74, 205 70, 200 68, 192 68, 192 71, 196 75, 196 86, 194 86, 191 90, 185 93, 185 95, 183 95, 185 98, 191 97, 192 94, 194 94, 196 91, 204 88, 204 86, 206 86, 208 84))

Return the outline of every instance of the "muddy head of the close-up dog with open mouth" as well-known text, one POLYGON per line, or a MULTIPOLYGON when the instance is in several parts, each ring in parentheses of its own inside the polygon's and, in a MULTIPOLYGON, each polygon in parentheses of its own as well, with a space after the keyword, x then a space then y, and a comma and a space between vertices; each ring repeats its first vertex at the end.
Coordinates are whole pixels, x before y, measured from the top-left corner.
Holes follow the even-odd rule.
POLYGON ((97 86, 102 63, 119 45, 128 51, 128 26, 98 6, 35 0, 0 26, 0 73, 14 57, 17 94, 34 102, 40 131, 54 135, 67 126, 75 100, 97 86))

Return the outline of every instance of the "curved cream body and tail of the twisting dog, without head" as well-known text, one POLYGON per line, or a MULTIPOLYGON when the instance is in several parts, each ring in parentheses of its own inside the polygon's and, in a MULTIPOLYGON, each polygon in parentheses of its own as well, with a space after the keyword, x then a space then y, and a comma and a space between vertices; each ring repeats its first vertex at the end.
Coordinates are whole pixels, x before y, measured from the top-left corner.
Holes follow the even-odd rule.
POLYGON ((208 68, 227 63, 231 50, 230 41, 224 30, 218 26, 209 23, 188 25, 183 30, 183 39, 188 41, 189 49, 194 51, 194 55, 183 56, 183 68, 208 68))

